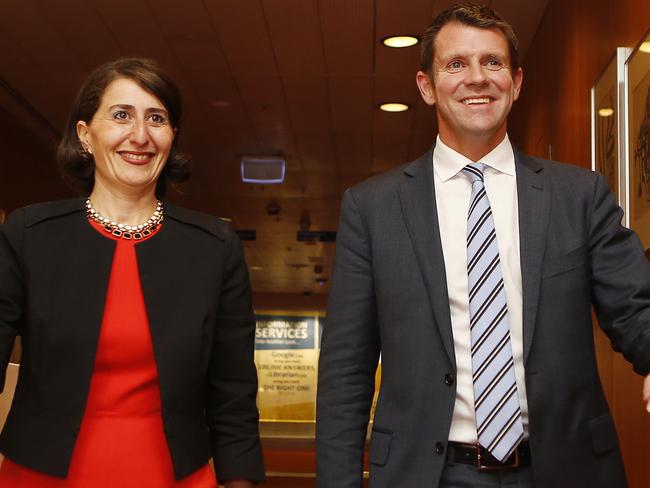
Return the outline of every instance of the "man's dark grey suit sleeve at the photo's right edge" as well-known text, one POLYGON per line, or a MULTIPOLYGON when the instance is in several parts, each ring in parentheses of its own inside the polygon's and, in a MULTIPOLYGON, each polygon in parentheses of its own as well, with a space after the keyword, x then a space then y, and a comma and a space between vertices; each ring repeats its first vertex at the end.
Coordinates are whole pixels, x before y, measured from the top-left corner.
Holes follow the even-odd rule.
POLYGON ((622 210, 601 175, 591 208, 593 303, 616 351, 641 374, 650 373, 650 263, 637 235, 621 225, 622 210))

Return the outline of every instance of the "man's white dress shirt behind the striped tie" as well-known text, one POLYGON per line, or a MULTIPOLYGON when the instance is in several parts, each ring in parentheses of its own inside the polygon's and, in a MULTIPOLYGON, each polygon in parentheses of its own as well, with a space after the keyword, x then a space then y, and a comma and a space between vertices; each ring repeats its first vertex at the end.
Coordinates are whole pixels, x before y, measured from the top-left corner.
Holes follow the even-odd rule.
MULTIPOLYGON (((449 440, 476 444, 466 246, 467 213, 472 185, 468 177, 461 172, 466 165, 472 162, 446 146, 438 137, 433 151, 434 185, 457 367, 456 403, 449 440)), ((523 363, 517 177, 515 157, 508 136, 506 135, 497 147, 481 158, 480 162, 486 165, 485 190, 494 216, 501 270, 508 302, 517 391, 524 430, 527 432, 528 404, 523 363)))

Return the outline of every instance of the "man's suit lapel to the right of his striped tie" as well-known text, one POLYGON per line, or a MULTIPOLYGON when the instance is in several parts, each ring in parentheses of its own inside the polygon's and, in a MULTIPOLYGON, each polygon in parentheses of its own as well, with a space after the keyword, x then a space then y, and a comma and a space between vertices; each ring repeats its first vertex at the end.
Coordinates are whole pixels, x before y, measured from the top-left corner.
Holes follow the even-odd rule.
POLYGON ((543 166, 515 150, 517 199, 519 201, 519 248, 521 254, 524 363, 535 331, 542 260, 546 248, 551 206, 543 166))

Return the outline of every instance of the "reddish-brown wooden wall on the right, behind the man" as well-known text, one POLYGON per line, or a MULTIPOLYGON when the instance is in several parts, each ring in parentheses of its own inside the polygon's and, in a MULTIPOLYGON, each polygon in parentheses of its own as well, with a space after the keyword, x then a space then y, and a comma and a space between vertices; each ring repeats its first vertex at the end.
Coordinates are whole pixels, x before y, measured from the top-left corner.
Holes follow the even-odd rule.
MULTIPOLYGON (((590 89, 617 46, 634 47, 650 27, 646 0, 550 0, 528 49, 510 134, 524 151, 590 166, 590 89)), ((642 378, 596 331, 603 386, 616 420, 631 488, 650 482, 650 415, 642 378)))

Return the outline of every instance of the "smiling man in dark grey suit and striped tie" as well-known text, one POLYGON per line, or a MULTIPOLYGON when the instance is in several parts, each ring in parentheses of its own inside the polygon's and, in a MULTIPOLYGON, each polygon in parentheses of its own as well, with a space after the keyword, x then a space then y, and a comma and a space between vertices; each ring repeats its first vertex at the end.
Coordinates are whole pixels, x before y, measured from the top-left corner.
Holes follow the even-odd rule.
MULTIPOLYGON (((514 150, 511 27, 455 6, 422 41, 435 146, 343 198, 318 389, 320 488, 626 485, 592 336, 650 372, 650 265, 604 179, 514 150)), ((650 376, 644 382, 650 409, 650 376)), ((649 410, 650 411, 650 410, 649 410)))

